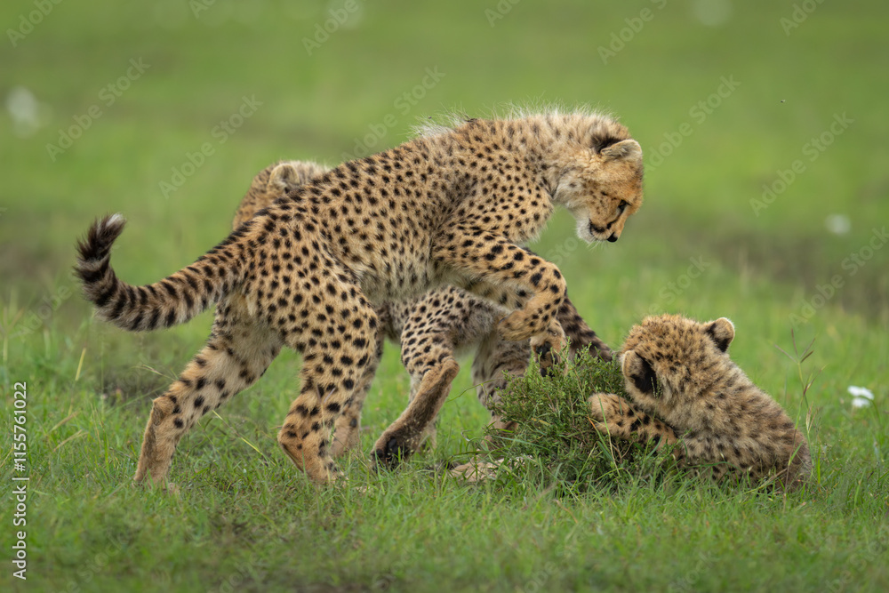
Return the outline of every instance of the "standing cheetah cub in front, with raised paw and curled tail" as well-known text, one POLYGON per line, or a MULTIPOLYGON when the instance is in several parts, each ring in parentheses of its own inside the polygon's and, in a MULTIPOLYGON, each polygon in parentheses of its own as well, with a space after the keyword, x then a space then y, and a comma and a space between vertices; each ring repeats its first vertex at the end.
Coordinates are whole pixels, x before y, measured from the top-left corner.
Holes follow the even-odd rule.
POLYGON ((520 245, 557 205, 582 239, 616 241, 642 204, 642 177, 639 144, 605 116, 471 119, 340 164, 155 284, 117 278, 109 259, 124 219, 97 220, 76 271, 101 318, 153 330, 220 302, 207 345, 154 401, 134 479, 163 482, 185 431, 256 381, 282 345, 303 364, 278 442, 316 483, 337 477, 332 429, 375 370, 371 301, 452 284, 512 311, 505 339, 561 349, 565 278, 520 245), (234 303, 248 323, 227 316, 234 303))

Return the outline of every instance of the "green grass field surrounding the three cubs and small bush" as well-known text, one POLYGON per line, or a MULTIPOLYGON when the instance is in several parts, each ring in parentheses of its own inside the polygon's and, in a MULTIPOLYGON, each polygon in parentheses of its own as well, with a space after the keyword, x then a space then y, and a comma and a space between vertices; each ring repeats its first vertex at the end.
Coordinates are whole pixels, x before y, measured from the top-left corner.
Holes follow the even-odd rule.
MULTIPOLYGON (((874 1, 818 4, 785 35, 792 3, 732 3, 714 27, 694 16, 706 3, 659 4, 521 2, 491 27, 495 2, 361 3, 311 56, 302 39, 327 18, 325 3, 218 0, 199 18, 172 0, 60 3, 14 47, 6 33, 0 92, 25 87, 38 105, 30 135, 8 108, 0 117, 4 493, 20 475, 17 381, 28 382, 30 476, 28 581, 12 578, 18 528, 5 495, 0 588, 889 588, 889 250, 873 230, 889 220, 889 14, 874 1), (645 7, 653 19, 603 63, 598 47, 645 7), (106 105, 101 90, 140 58, 148 70, 106 105), (427 68, 445 76, 404 112, 396 101, 427 68), (732 76, 737 88, 693 115, 732 76), (244 96, 262 105, 220 143, 214 126, 244 96), (124 212, 116 269, 154 281, 224 236, 252 175, 278 158, 335 164, 382 122, 394 121, 376 148, 447 108, 485 116, 548 100, 589 103, 629 125, 649 164, 646 202, 617 244, 582 246, 558 212, 534 249, 557 262, 614 347, 649 313, 731 317, 733 359, 808 425, 812 487, 785 498, 648 479, 632 465, 582 490, 532 474, 463 485, 428 468, 465 461, 484 436, 466 370, 436 451, 375 475, 370 445, 409 390, 394 348, 364 408, 363 450, 344 462, 348 482, 316 489, 277 449, 298 391, 299 361, 286 353, 183 438, 171 474, 179 496, 130 485, 150 398, 200 347, 211 317, 145 335, 93 320, 70 267, 96 215, 124 212), (47 144, 96 105, 101 116, 53 161, 47 144), (853 123, 811 160, 807 144, 844 113, 853 123), (683 124, 692 133, 661 148, 683 124), (205 142, 213 154, 164 197, 161 182, 205 142), (805 170, 754 212, 751 200, 797 160, 805 170), (831 215, 848 231, 830 232, 831 215), (813 339, 802 368, 775 348, 792 354, 794 341, 813 339), (874 405, 853 408, 850 385, 871 389, 874 405)), ((32 10, 3 4, 3 30, 32 10)))

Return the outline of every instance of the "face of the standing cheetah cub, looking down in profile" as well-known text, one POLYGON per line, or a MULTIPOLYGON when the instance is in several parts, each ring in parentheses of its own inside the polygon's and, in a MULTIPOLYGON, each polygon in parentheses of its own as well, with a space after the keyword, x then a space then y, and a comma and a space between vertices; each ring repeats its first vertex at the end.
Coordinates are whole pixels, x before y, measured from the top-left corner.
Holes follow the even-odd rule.
POLYGON ((636 140, 581 148, 562 165, 553 196, 577 220, 577 236, 587 243, 613 243, 642 205, 642 173, 642 147, 636 140))

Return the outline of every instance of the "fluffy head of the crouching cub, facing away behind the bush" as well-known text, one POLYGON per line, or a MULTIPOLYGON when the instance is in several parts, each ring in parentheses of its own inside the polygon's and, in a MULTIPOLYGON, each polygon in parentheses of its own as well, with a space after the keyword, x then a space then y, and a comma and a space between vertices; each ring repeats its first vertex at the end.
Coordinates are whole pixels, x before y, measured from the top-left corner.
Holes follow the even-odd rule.
POLYGON ((658 410, 700 397, 715 375, 734 368, 727 352, 733 339, 734 325, 725 317, 703 324, 677 315, 646 317, 618 354, 627 393, 658 410))

